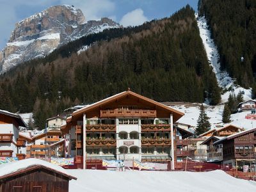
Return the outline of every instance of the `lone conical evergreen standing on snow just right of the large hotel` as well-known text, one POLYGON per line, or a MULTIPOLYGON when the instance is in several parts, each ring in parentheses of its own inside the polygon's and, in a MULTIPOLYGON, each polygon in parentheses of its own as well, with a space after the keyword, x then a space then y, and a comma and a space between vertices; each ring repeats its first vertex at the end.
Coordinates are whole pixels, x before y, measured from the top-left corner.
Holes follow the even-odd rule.
POLYGON ((197 120, 197 126, 196 126, 196 136, 199 136, 200 134, 207 132, 211 129, 211 124, 209 122, 209 117, 205 113, 204 105, 202 104, 200 106, 200 115, 197 120))

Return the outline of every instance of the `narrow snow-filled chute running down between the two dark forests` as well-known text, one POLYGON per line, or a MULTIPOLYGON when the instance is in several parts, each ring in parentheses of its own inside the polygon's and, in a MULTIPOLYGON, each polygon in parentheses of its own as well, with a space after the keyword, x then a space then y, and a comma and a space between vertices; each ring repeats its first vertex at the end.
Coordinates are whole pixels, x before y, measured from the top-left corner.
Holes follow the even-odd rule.
POLYGON ((220 55, 218 53, 216 45, 214 44, 214 40, 211 38, 211 31, 209 30, 209 26, 207 25, 207 20, 205 19, 204 16, 198 17, 198 13, 195 13, 195 17, 197 20, 197 26, 200 31, 200 37, 202 38, 209 64, 212 66, 212 70, 216 74, 218 84, 221 88, 225 90, 227 90, 228 88, 231 89, 230 91, 227 91, 226 93, 221 95, 221 102, 227 102, 228 96, 230 94, 235 93, 237 95, 239 91, 243 91, 245 93, 245 100, 252 99, 251 89, 246 90, 244 88, 236 86, 236 79, 231 78, 228 75, 228 72, 220 70, 220 55))

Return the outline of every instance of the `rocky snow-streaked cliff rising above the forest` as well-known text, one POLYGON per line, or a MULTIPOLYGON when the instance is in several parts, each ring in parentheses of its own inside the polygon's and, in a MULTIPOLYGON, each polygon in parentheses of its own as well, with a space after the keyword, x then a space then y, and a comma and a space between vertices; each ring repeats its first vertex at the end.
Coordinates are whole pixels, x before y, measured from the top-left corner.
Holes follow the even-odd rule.
POLYGON ((81 10, 73 6, 52 6, 15 25, 8 44, 0 52, 0 74, 24 61, 44 57, 81 36, 119 27, 108 18, 86 22, 81 10))

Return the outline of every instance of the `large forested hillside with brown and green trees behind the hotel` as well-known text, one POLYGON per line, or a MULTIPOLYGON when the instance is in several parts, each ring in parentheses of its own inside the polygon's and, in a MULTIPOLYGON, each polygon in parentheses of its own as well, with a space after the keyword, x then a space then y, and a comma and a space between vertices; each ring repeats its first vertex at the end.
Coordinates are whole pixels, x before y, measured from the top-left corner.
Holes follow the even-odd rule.
POLYGON ((127 90, 157 101, 220 102, 190 6, 142 26, 109 29, 24 63, 1 77, 0 108, 31 112, 36 124, 72 104, 127 90), (83 52, 77 51, 87 45, 83 52), (17 94, 19 93, 19 94, 17 94))

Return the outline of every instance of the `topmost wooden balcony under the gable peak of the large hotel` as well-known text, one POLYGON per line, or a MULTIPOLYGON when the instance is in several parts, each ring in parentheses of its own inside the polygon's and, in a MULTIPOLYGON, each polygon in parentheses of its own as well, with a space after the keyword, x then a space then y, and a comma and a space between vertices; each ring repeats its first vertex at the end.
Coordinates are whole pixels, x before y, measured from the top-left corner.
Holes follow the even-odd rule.
POLYGON ((156 117, 156 110, 144 110, 144 109, 109 109, 109 110, 100 110, 100 117, 156 117))

